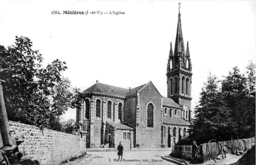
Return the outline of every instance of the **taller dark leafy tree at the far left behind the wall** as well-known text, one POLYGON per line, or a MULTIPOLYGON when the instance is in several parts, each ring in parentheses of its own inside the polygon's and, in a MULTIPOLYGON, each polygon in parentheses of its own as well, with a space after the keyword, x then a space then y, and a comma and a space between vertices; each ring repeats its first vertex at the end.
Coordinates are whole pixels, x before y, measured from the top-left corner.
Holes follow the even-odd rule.
POLYGON ((37 83, 34 77, 41 66, 42 55, 31 49, 32 42, 26 37, 16 36, 15 45, 2 48, 0 65, 1 79, 4 80, 4 98, 8 118, 14 121, 26 120, 24 110, 30 110, 33 98, 45 100, 39 93, 36 94, 37 83), (32 95, 33 93, 33 95, 32 95))

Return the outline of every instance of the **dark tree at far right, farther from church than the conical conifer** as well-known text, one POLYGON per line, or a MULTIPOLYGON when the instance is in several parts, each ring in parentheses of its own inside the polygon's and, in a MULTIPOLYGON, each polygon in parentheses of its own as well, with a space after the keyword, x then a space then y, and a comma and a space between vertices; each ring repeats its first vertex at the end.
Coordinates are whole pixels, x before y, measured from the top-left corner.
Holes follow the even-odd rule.
POLYGON ((237 138, 255 134, 255 98, 249 95, 247 81, 244 74, 240 74, 239 69, 234 67, 222 82, 223 99, 237 122, 237 138))

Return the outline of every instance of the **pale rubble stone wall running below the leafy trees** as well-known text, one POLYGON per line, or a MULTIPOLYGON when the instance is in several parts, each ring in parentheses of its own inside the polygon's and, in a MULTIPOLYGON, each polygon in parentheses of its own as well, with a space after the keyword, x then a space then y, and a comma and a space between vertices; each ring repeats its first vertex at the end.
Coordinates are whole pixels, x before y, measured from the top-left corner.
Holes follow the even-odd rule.
POLYGON ((40 160, 43 165, 61 162, 81 156, 86 149, 86 136, 66 134, 51 129, 9 121, 12 137, 23 138, 19 151, 23 156, 40 160))

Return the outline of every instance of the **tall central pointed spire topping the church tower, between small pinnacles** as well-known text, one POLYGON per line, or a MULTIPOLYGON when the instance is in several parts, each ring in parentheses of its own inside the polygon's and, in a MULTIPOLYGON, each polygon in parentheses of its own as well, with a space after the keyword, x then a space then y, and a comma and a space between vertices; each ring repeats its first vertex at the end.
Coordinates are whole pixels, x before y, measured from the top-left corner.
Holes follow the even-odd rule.
POLYGON ((177 33, 176 33, 176 40, 175 40, 174 56, 177 56, 178 52, 185 53, 182 30, 181 30, 180 3, 179 3, 178 25, 177 25, 177 33))

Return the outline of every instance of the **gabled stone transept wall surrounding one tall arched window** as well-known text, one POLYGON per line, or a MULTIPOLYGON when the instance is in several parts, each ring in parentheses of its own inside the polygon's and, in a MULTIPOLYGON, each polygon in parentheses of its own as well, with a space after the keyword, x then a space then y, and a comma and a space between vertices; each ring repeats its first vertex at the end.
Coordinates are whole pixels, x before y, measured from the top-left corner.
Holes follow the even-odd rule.
POLYGON ((142 148, 161 146, 161 96, 150 83, 139 94, 139 126, 137 128, 137 141, 142 148), (154 105, 153 127, 147 127, 147 105, 154 105))

